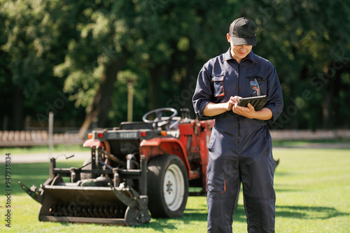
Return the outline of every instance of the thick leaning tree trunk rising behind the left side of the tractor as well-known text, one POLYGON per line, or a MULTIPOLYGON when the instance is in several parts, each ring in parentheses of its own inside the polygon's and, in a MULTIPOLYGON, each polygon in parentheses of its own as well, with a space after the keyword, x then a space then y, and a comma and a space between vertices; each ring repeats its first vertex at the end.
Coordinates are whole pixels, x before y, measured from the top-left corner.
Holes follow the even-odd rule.
POLYGON ((80 127, 80 137, 84 138, 87 129, 94 127, 106 127, 108 111, 111 108, 111 94, 113 94, 114 83, 117 80, 118 71, 124 66, 126 59, 111 62, 104 67, 104 73, 99 81, 90 111, 86 113, 83 125, 80 127))

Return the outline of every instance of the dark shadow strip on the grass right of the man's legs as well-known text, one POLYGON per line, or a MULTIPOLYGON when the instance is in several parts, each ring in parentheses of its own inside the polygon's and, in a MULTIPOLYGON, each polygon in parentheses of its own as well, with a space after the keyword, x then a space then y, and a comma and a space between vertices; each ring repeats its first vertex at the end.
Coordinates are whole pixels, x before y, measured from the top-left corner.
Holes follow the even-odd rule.
POLYGON ((302 219, 328 219, 338 216, 350 216, 350 213, 337 211, 325 206, 276 206, 276 217, 302 219))

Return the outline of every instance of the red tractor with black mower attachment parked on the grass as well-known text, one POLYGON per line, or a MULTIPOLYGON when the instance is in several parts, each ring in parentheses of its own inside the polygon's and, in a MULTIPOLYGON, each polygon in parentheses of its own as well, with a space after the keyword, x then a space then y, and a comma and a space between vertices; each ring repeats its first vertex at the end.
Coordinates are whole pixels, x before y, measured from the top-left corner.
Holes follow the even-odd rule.
POLYGON ((190 119, 188 109, 181 113, 158 108, 143 122, 92 131, 83 145, 91 156, 82 167, 57 168, 51 158, 50 178, 40 188, 20 183, 42 204, 39 220, 141 225, 151 216, 181 216, 188 195, 206 192, 214 125, 214 120, 190 119), (202 189, 189 193, 189 186, 202 189))

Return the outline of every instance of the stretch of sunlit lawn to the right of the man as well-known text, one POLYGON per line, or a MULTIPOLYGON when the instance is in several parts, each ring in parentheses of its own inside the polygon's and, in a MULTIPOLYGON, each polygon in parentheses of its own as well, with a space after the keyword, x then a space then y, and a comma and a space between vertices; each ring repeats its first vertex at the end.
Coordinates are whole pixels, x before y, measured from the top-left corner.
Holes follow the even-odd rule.
POLYGON ((279 149, 276 232, 349 232, 350 150, 279 149))

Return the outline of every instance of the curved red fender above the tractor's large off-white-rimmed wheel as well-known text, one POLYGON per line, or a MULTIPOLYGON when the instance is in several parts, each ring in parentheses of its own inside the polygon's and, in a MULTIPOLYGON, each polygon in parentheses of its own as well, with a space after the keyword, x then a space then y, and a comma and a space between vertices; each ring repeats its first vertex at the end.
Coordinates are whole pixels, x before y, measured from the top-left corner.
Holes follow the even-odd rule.
POLYGON ((179 139, 164 137, 143 140, 140 143, 140 155, 145 155, 147 161, 159 155, 176 155, 185 164, 188 174, 190 173, 187 152, 179 139))

